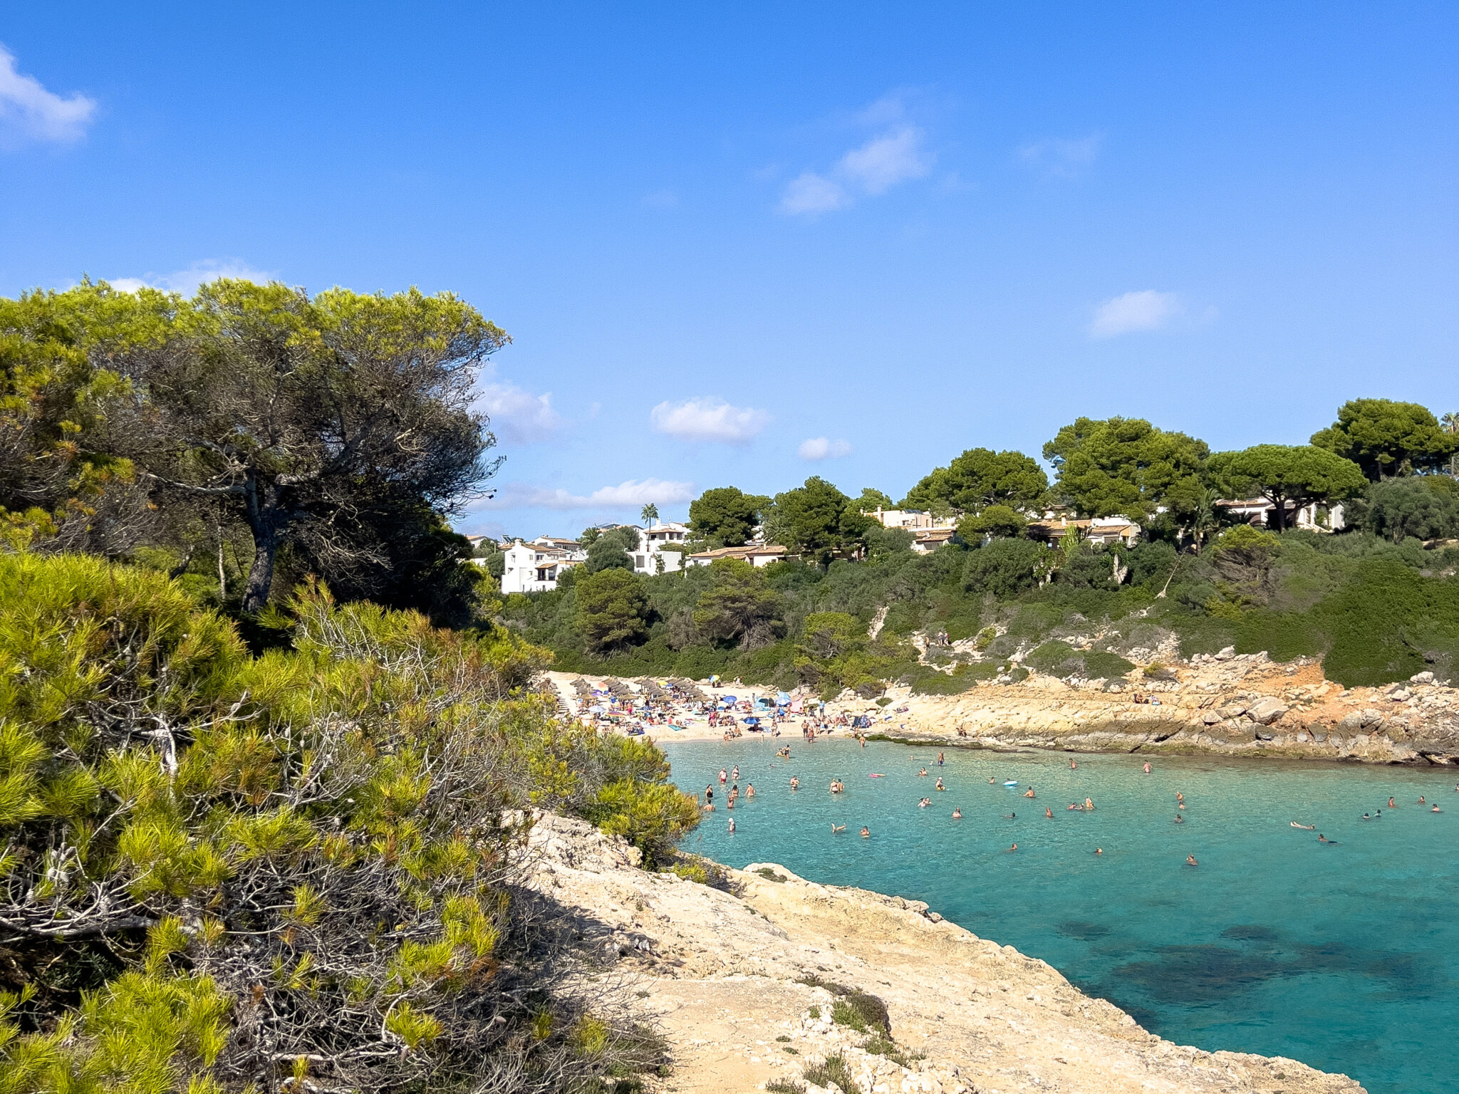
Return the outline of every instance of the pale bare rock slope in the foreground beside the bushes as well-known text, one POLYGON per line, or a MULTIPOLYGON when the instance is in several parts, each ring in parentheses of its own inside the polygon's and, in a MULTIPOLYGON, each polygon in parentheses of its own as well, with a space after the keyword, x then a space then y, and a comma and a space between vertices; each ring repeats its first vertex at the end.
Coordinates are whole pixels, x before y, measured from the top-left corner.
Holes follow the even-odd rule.
POLYGON ((664 1094, 1363 1091, 1297 1060, 1173 1044, 921 901, 775 864, 724 869, 711 887, 639 869, 622 840, 543 815, 527 884, 598 957, 598 971, 565 970, 565 990, 622 996, 664 1037, 668 1074, 649 1079, 664 1094))

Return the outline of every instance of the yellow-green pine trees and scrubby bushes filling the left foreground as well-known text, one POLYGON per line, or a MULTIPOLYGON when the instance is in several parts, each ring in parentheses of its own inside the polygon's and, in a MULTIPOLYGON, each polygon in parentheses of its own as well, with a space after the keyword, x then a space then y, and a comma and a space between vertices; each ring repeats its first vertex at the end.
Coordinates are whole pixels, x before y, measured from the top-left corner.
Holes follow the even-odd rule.
POLYGON ((697 811, 652 744, 556 716, 463 565, 505 340, 449 295, 0 300, 0 1091, 659 1066, 522 884, 534 810, 648 866, 697 811))

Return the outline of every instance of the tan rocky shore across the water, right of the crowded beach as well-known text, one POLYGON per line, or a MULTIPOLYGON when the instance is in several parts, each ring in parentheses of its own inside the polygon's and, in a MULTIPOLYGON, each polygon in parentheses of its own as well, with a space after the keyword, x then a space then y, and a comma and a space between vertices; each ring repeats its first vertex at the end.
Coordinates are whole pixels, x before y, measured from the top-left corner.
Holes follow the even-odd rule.
POLYGON ((1223 651, 1137 670, 1115 690, 1030 675, 947 697, 889 694, 906 712, 880 732, 919 744, 1459 764, 1459 690, 1433 672, 1344 688, 1312 661, 1223 651))

